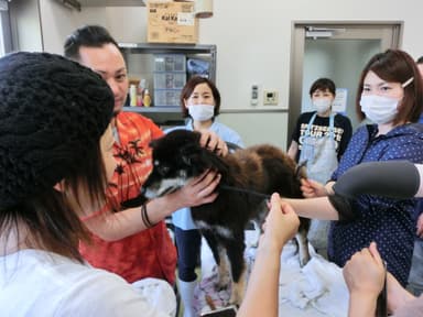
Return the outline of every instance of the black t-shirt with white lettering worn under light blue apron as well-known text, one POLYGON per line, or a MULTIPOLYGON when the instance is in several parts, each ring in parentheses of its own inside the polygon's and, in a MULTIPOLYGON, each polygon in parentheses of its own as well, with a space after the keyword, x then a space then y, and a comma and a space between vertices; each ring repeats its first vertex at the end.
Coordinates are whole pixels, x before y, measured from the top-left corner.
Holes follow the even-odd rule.
MULTIPOLYGON (((299 144, 299 152, 296 154, 296 161, 300 158, 301 147, 302 147, 302 138, 307 130, 310 119, 312 119, 313 112, 304 112, 300 114, 299 120, 296 121, 296 127, 294 133, 292 133, 292 141, 295 141, 299 144)), ((327 135, 329 133, 329 117, 319 117, 318 114, 314 119, 312 127, 310 129, 310 134, 316 138, 327 135)), ((338 161, 343 156, 345 150, 347 149, 348 142, 351 139, 352 127, 351 121, 343 114, 335 114, 334 118, 334 134, 336 141, 336 152, 338 155, 338 161)))

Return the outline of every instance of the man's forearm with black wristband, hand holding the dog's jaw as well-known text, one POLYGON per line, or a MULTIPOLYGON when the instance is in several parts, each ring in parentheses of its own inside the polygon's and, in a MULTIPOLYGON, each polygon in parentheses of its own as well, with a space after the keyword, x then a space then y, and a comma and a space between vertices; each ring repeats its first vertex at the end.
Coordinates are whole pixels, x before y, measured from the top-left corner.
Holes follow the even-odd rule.
MULTIPOLYGON (((145 208, 150 222, 158 223, 183 207, 212 203, 217 197, 215 188, 219 181, 220 175, 215 172, 207 172, 207 174, 191 181, 180 190, 148 201, 145 208)), ((148 229, 141 211, 141 207, 129 208, 119 212, 108 211, 102 215, 88 216, 84 219, 84 223, 104 240, 120 240, 148 229)))

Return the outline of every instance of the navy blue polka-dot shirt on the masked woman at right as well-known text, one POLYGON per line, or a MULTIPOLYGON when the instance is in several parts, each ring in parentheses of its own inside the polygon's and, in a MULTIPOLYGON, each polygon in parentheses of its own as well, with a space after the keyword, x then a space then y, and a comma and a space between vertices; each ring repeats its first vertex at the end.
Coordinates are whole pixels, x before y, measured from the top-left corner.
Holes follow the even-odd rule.
MULTIPOLYGON (((413 124, 397 127, 384 135, 376 136, 377 132, 377 125, 365 125, 357 130, 333 174, 333 181, 362 162, 423 162, 423 133, 413 124)), ((356 251, 376 241, 388 263, 388 270, 405 285, 415 238, 415 204, 416 199, 399 200, 361 195, 354 203, 354 211, 357 215, 354 221, 333 221, 328 239, 329 259, 344 266, 356 251)))

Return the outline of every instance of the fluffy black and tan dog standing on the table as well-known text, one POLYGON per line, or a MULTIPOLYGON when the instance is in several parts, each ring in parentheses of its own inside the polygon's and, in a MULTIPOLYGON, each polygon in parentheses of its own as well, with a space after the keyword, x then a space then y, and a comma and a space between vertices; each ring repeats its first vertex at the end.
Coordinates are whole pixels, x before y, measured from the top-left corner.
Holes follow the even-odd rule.
MULTIPOLYGON (((267 195, 302 197, 301 176, 296 164, 275 146, 258 145, 220 157, 202 147, 199 136, 196 132, 175 130, 151 143, 154 167, 144 184, 144 195, 153 198, 176 190, 207 168, 220 173, 216 200, 191 210, 218 264, 219 287, 230 283, 225 278, 229 260, 234 282, 230 302, 239 305, 246 286, 246 226, 253 220, 261 228, 268 214, 267 195)), ((296 236, 302 265, 310 259, 307 229, 308 221, 302 219, 296 236)))

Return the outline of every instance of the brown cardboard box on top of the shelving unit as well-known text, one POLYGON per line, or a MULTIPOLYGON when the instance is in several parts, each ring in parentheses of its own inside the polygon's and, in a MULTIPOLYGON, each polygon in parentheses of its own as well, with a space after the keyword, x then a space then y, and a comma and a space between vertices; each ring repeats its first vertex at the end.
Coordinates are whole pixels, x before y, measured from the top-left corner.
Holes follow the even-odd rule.
POLYGON ((156 2, 147 4, 149 43, 185 43, 198 41, 198 21, 194 2, 156 2))

